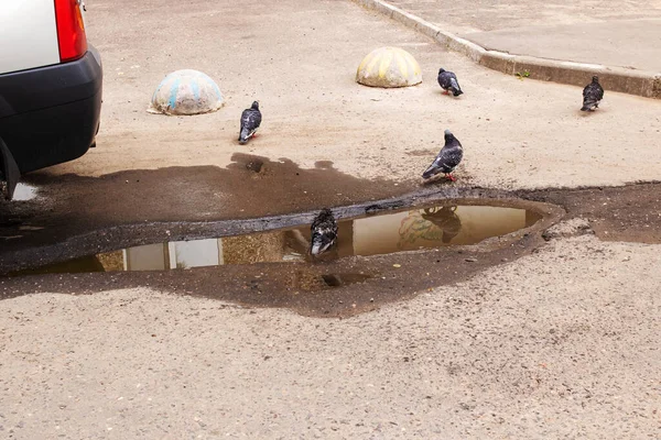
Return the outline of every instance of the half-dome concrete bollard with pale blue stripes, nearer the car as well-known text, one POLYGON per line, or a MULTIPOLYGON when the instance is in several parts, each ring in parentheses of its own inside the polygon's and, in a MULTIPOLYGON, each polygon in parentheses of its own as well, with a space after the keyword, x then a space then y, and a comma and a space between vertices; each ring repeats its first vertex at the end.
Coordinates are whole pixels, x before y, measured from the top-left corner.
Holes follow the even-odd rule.
POLYGON ((169 74, 156 87, 148 109, 151 113, 199 114, 223 107, 223 94, 212 78, 198 70, 169 74))

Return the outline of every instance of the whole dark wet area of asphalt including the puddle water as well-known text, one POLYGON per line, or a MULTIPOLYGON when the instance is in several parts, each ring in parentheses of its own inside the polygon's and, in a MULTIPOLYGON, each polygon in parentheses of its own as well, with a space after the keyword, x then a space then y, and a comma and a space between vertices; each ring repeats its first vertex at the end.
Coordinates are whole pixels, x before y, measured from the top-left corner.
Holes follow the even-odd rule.
POLYGON ((562 218, 586 219, 584 233, 605 240, 661 242, 660 184, 521 191, 443 179, 394 186, 343 175, 329 163, 301 169, 250 155, 237 155, 228 169, 46 182, 31 176, 36 198, 0 206, 0 273, 25 271, 0 278, 1 298, 142 286, 347 317, 537 252, 562 218), (122 191, 127 186, 133 190, 122 191), (282 188, 299 197, 278 195, 282 188), (364 201, 343 205, 346 197, 364 201), (340 219, 340 241, 329 258, 311 264, 305 224, 323 202, 340 219), (39 274, 51 264, 53 273, 39 274))

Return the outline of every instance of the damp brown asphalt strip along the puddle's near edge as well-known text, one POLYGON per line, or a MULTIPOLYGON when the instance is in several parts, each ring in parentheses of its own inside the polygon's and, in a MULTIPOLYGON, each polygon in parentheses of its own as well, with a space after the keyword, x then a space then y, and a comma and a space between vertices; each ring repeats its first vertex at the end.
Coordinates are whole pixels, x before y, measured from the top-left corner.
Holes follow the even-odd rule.
POLYGON ((149 287, 246 307, 286 308, 304 316, 343 318, 452 285, 543 245, 522 233, 473 249, 445 248, 318 264, 257 263, 180 271, 46 274, 0 278, 0 298, 40 292, 85 295, 149 287))

